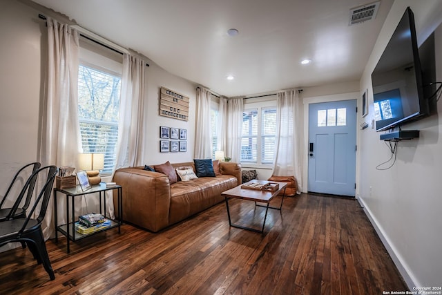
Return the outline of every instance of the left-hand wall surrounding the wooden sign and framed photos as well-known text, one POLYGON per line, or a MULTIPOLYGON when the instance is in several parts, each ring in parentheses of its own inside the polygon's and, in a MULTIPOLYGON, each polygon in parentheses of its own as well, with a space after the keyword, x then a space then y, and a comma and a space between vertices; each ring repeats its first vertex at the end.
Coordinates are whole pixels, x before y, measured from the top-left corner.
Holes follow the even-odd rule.
MULTIPOLYGON (((13 173, 37 160, 39 110, 46 68, 46 26, 38 11, 15 0, 3 0, 0 10, 0 195, 13 173)), ((171 75, 152 61, 146 68, 146 164, 193 160, 196 85, 171 75), (160 87, 190 97, 189 121, 159 115, 160 87), (186 153, 160 153, 160 125, 187 129, 186 153)))

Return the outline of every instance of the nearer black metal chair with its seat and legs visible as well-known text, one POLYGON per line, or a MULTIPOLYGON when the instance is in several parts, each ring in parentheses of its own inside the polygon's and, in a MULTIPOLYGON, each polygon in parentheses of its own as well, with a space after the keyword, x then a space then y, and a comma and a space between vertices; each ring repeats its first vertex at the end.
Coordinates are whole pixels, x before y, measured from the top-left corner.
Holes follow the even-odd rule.
MULTIPOLYGON (((48 251, 46 250, 43 231, 41 229, 41 222, 46 215, 46 209, 48 209, 52 186, 57 172, 57 166, 46 166, 32 173, 22 191, 25 190, 26 187, 29 187, 31 182, 39 175, 46 175, 46 182, 41 189, 39 189, 35 202, 28 212, 28 217, 0 222, 0 247, 9 242, 26 242, 37 263, 43 263, 50 280, 55 279, 55 274, 50 265, 48 251), (38 216, 37 218, 32 218, 37 208, 40 210, 38 216)), ((18 204, 12 207, 12 212, 14 213, 17 209, 18 204)))

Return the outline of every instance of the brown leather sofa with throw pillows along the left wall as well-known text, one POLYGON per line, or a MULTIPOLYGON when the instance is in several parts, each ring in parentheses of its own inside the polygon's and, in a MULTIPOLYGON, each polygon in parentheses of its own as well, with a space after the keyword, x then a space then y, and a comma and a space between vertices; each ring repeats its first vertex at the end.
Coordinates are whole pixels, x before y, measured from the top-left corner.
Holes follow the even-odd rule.
MULTIPOLYGON (((123 188, 122 219, 156 232, 222 202, 221 193, 241 184, 241 166, 220 162, 216 177, 203 177, 170 184, 169 178, 142 166, 115 171, 113 181, 123 188)), ((193 162, 172 164, 176 169, 193 162)), ((115 214, 117 198, 114 196, 115 214)))

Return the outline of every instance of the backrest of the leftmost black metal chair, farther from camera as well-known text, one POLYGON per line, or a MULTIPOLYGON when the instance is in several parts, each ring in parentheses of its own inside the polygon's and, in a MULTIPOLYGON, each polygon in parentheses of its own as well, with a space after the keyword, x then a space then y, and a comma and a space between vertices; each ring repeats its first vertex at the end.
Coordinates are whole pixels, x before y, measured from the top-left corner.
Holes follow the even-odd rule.
MULTIPOLYGON (((37 171, 41 164, 39 162, 33 162, 30 164, 26 164, 25 166, 21 167, 21 169, 19 169, 19 171, 17 171, 17 173, 15 173, 14 178, 12 178, 12 182, 10 183, 8 190, 6 191, 5 196, 3 196, 3 199, 0 202, 0 208, 3 206, 3 204, 6 202, 6 199, 8 198, 8 195, 10 193, 10 191, 12 190, 12 187, 14 187, 15 184, 18 184, 19 180, 21 180, 21 178, 23 178, 24 181, 26 181, 26 171, 28 171, 29 169, 27 169, 28 167, 32 166, 32 172, 28 173, 29 176, 27 178, 27 180, 29 180, 30 178, 32 178, 32 181, 29 182, 29 185, 26 186, 23 185, 23 189, 26 188, 27 190, 27 194, 26 194, 26 200, 25 203, 23 204, 23 209, 26 211, 26 209, 28 209, 29 204, 30 204, 30 199, 32 198, 32 193, 34 192, 34 188, 35 188, 35 182, 37 181, 37 177, 32 177, 33 173, 35 173, 35 171, 37 171), (21 178, 19 177, 21 176, 21 178)), ((17 207, 19 206, 21 200, 23 199, 24 194, 26 193, 26 190, 23 191, 23 189, 21 189, 21 193, 19 194, 19 197, 15 199, 15 204, 13 207, 17 207)))

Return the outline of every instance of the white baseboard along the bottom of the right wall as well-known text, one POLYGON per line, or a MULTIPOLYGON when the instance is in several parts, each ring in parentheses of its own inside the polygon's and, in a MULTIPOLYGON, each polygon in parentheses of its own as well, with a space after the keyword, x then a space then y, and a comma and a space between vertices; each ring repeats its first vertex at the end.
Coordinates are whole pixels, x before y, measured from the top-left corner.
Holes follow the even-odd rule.
POLYGON ((415 278, 413 279, 410 269, 408 269, 408 267, 406 267, 406 264, 403 263, 403 259, 401 258, 401 256, 397 255, 396 249, 394 249, 393 244, 390 242, 390 240, 385 235, 382 227, 380 225, 378 225, 376 218, 374 218, 374 216, 372 216, 372 213, 371 213, 369 207, 367 207, 367 204, 365 204, 364 200, 359 198, 359 196, 356 197, 356 200, 358 200, 359 204, 361 204, 361 207, 363 207, 365 214, 367 215, 368 219, 372 223, 374 230, 378 234, 379 238, 381 238, 381 241, 382 241, 383 245, 385 246, 385 249, 387 249, 388 254, 390 254, 390 256, 392 257, 393 263, 394 263, 394 265, 396 265, 399 273, 403 277, 403 280, 405 280, 407 287, 410 290, 413 290, 413 287, 419 286, 416 279, 415 278))

